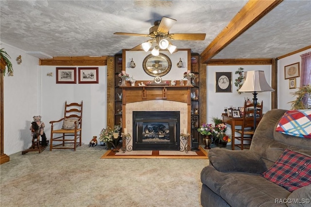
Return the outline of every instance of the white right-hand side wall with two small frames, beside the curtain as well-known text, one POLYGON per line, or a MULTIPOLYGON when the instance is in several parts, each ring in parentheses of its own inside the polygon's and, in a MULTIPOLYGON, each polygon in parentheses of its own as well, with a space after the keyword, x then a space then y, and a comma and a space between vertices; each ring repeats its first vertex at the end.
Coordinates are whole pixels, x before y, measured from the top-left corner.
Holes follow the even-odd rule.
MULTIPOLYGON (((296 96, 293 96, 291 93, 298 90, 298 87, 300 86, 300 77, 296 78, 296 88, 295 89, 289 89, 289 79, 284 79, 284 67, 299 62, 299 67, 301 70, 301 54, 311 52, 311 49, 298 52, 296 54, 293 54, 288 57, 284 57, 282 59, 279 59, 277 61, 277 70, 278 70, 278 94, 277 94, 277 103, 278 108, 282 109, 291 109, 291 104, 289 102, 296 100, 296 96)), ((301 71, 300 71, 301 74, 301 71)))

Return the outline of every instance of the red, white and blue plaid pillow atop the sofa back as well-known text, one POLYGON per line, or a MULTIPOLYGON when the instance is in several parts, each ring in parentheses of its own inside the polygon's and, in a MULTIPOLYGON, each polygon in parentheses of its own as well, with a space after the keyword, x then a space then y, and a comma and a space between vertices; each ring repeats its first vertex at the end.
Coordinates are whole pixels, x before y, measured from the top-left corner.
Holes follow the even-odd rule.
POLYGON ((295 137, 311 138, 311 110, 285 112, 277 124, 276 131, 295 137))

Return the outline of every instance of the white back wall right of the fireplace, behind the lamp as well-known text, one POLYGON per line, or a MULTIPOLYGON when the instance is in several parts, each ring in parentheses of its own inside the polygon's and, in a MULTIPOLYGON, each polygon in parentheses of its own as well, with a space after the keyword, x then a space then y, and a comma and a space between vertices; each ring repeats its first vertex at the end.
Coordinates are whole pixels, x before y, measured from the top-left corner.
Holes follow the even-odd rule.
MULTIPOLYGON (((271 86, 271 65, 207 66, 207 123, 212 123, 212 117, 221 118, 221 114, 224 113, 225 107, 229 108, 229 105, 232 105, 233 107, 242 107, 244 106, 245 99, 253 99, 254 96, 252 93, 239 94, 237 87, 234 86, 235 79, 239 76, 238 74, 235 74, 235 71, 239 68, 243 68, 243 71, 263 70, 267 83, 271 86), (215 92, 216 72, 232 72, 232 92, 215 92)), ((271 92, 258 93, 257 99, 258 102, 263 101, 263 113, 271 109, 271 92)), ((228 135, 231 135, 231 128, 229 125, 227 132, 228 135)))

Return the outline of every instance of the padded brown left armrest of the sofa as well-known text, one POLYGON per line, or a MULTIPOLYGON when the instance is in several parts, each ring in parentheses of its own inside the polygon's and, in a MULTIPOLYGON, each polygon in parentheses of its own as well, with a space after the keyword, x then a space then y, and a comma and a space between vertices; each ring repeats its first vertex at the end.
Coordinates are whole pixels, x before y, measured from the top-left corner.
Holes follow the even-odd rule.
POLYGON ((264 161, 254 152, 231 151, 220 148, 209 150, 210 163, 219 172, 263 173, 267 170, 264 161))

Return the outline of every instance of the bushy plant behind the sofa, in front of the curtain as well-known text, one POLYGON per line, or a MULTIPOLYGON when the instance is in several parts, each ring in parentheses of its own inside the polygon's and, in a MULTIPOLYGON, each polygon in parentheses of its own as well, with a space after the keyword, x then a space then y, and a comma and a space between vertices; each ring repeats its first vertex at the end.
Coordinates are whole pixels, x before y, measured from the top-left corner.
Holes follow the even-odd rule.
POLYGON ((299 90, 297 90, 294 93, 291 93, 294 96, 297 96, 295 101, 289 102, 292 103, 292 109, 311 109, 311 84, 308 84, 307 86, 299 87, 299 90))

